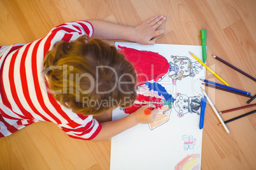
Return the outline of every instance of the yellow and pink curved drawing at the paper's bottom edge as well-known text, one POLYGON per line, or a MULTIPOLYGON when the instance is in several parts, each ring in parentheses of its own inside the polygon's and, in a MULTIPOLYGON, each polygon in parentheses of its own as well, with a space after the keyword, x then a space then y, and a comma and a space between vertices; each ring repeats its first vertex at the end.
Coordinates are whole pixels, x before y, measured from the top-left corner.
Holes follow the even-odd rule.
POLYGON ((183 159, 176 164, 174 167, 175 170, 181 170, 181 169, 193 169, 193 170, 199 170, 200 169, 200 154, 191 154, 187 155, 183 159))

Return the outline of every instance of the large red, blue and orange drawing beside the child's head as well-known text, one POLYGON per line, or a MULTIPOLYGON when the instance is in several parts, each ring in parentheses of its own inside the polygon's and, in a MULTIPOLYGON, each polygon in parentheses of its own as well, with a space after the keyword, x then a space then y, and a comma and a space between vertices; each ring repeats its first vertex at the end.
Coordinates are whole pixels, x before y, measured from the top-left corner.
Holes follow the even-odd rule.
POLYGON ((118 46, 118 48, 136 69, 139 85, 138 94, 140 95, 131 107, 125 108, 124 112, 131 114, 138 110, 141 105, 149 102, 153 103, 162 111, 156 115, 155 121, 149 124, 150 129, 153 130, 169 121, 169 115, 174 101, 173 96, 167 93, 166 89, 159 83, 156 83, 168 72, 169 63, 164 56, 153 53, 152 51, 139 51, 124 46, 118 46), (154 82, 149 82, 152 80, 154 82), (148 98, 148 96, 151 98, 148 98))

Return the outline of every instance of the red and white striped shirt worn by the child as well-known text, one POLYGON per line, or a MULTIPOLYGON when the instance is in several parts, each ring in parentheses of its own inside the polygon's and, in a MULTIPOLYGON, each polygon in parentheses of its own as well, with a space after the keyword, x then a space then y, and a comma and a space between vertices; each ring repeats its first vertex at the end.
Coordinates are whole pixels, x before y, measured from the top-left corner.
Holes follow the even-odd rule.
POLYGON ((0 137, 9 136, 34 122, 53 122, 72 138, 92 140, 101 124, 63 107, 46 92, 43 60, 57 41, 74 41, 83 34, 92 36, 89 22, 69 22, 29 44, 0 46, 0 137))

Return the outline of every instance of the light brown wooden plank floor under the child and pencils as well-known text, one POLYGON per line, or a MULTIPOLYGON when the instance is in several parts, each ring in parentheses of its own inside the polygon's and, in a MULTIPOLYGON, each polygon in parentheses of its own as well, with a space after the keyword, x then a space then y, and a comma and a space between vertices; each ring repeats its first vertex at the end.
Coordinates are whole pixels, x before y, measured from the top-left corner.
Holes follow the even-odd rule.
MULTIPOLYGON (((136 26, 152 16, 166 15, 162 25, 166 32, 157 43, 201 45, 199 31, 207 29, 208 65, 231 87, 255 95, 255 81, 211 57, 220 56, 256 77, 255 8, 255 0, 0 0, 0 46, 34 41, 73 20, 136 26)), ((220 82, 210 72, 206 77, 220 82)), ((215 89, 206 92, 218 111, 241 107, 248 100, 215 89)), ((255 107, 222 117, 228 120, 251 110, 255 107)), ((111 115, 98 119, 111 120, 111 115)), ((230 122, 227 134, 207 105, 201 169, 256 169, 255 122, 256 114, 230 122)), ((75 140, 55 124, 38 122, 0 138, 0 169, 110 169, 110 145, 111 140, 75 140)))

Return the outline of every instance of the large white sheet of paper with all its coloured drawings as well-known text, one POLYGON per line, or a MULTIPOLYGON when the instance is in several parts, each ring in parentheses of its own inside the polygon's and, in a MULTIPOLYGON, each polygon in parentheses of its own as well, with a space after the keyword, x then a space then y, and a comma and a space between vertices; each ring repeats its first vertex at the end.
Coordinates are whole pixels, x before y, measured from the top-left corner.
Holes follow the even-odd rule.
POLYGON ((206 68, 194 62, 188 51, 201 59, 202 47, 143 46, 129 42, 116 42, 116 47, 134 65, 138 97, 131 107, 114 110, 112 120, 122 119, 147 103, 153 103, 160 111, 148 126, 135 126, 112 138, 113 169, 199 170, 203 133, 199 129, 200 88, 203 86, 197 77, 203 79, 206 68), (157 154, 148 154, 149 147, 157 154), (127 159, 119 159, 120 156, 127 159))

